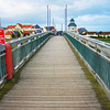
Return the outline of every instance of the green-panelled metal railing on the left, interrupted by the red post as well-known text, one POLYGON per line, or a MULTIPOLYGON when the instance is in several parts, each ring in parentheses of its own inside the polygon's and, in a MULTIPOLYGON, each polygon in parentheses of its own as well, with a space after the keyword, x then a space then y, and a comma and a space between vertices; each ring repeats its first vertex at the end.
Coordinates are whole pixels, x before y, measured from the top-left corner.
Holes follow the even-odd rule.
MULTIPOLYGON (((35 34, 8 42, 12 48, 13 72, 16 73, 51 35, 54 35, 54 33, 35 34)), ((6 81, 8 76, 4 51, 6 45, 0 45, 0 86, 6 81)))

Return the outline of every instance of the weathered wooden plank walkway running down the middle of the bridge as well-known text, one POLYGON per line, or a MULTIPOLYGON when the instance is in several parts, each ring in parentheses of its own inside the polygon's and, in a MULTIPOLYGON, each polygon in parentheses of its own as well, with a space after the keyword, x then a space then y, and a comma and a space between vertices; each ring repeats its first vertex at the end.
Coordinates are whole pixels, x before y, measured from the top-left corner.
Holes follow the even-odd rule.
POLYGON ((52 37, 21 72, 0 110, 101 110, 67 42, 52 37))

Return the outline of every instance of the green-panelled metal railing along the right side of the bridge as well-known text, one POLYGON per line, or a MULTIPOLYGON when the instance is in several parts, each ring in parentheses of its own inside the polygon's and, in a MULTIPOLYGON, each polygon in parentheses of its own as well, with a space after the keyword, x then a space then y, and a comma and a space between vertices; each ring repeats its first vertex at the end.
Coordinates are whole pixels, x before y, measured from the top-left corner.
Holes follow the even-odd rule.
POLYGON ((103 42, 76 33, 64 32, 63 35, 70 41, 70 43, 90 65, 106 88, 108 88, 110 95, 110 46, 103 42))

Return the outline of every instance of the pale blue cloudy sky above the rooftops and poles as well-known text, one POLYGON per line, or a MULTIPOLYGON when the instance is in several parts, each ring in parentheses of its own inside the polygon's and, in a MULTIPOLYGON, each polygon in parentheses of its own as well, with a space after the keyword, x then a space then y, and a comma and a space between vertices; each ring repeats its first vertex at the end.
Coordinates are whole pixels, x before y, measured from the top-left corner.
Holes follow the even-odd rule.
POLYGON ((67 23, 73 18, 77 28, 110 31, 110 0, 0 0, 1 26, 16 23, 46 26, 47 4, 57 30, 65 23, 67 4, 67 23))

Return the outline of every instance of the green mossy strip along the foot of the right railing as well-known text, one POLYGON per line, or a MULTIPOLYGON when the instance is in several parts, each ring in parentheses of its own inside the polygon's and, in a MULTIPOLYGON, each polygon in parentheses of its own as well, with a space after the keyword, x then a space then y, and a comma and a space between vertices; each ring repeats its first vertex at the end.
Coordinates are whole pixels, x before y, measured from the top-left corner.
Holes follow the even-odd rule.
POLYGON ((105 91, 101 89, 100 85, 95 79, 95 77, 92 76, 90 70, 87 68, 87 66, 85 65, 85 63, 82 62, 82 59, 80 58, 80 56, 78 55, 76 50, 73 47, 73 45, 69 43, 67 37, 65 37, 65 38, 68 42, 72 51, 75 54, 75 56, 77 57, 80 66, 82 67, 82 70, 85 72, 85 75, 86 75, 87 79, 90 80, 90 82, 92 85, 92 89, 95 90, 95 92, 97 95, 98 101, 100 102, 100 105, 102 107, 102 110, 110 110, 110 101, 109 101, 108 97, 106 96, 105 91))

